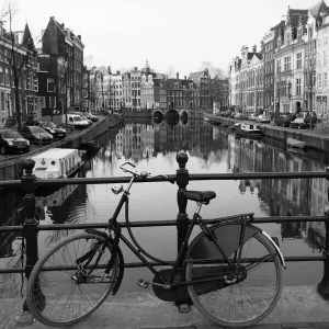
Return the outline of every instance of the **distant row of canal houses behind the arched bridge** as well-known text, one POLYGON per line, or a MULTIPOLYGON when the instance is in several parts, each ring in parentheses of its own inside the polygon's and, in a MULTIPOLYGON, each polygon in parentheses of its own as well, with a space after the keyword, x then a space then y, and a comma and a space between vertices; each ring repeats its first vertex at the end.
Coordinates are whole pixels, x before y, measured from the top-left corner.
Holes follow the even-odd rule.
POLYGON ((212 78, 207 68, 175 78, 156 72, 148 60, 143 68, 112 72, 111 67, 92 67, 86 72, 89 94, 86 107, 113 110, 227 107, 228 79, 212 78), (88 78, 89 76, 89 78, 88 78))

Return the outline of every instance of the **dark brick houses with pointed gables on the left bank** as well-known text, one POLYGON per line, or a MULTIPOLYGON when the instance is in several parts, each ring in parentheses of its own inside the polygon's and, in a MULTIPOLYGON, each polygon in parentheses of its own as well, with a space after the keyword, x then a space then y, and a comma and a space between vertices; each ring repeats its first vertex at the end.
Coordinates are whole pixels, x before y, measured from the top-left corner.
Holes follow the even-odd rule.
POLYGON ((81 36, 54 16, 36 41, 27 23, 21 34, 0 22, 0 127, 18 112, 25 121, 39 117, 43 109, 80 106, 83 48, 81 36))

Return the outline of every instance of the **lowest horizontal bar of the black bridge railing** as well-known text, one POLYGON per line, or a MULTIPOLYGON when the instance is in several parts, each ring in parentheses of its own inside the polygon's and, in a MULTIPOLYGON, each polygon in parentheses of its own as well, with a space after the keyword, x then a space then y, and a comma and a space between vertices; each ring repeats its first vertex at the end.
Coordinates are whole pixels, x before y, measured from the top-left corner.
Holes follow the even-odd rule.
MULTIPOLYGON (((292 257, 285 257, 284 260, 286 262, 306 262, 306 261, 311 261, 311 262, 317 262, 317 261, 325 261, 327 260, 327 257, 325 256, 292 256, 292 257)), ((171 265, 174 264, 174 261, 169 261, 171 265)), ((163 266, 168 268, 168 265, 163 265, 157 262, 150 262, 152 266, 163 266)), ((127 269, 135 269, 135 268, 145 268, 145 264, 143 262, 129 262, 125 263, 125 268, 127 269)), ((7 268, 7 269, 0 269, 0 274, 1 273, 24 273, 25 268, 7 268)))

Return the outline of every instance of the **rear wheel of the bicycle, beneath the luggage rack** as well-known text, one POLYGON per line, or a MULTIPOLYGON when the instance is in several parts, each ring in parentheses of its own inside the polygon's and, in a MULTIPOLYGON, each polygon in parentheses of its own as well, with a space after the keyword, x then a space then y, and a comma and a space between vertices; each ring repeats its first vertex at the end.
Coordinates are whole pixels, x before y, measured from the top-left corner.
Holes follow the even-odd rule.
POLYGON ((239 251, 239 232, 241 225, 240 222, 237 222, 222 223, 209 227, 217 238, 219 246, 232 262, 234 271, 228 269, 227 263, 225 263, 220 254, 218 257, 218 248, 206 238, 204 232, 201 232, 194 238, 186 251, 185 277, 188 282, 197 279, 214 277, 215 273, 222 274, 222 276, 226 275, 226 280, 220 279, 215 282, 211 281, 188 285, 190 297, 198 311, 208 320, 225 328, 240 328, 257 324, 272 311, 282 291, 282 266, 280 258, 271 241, 254 226, 248 224, 246 228, 246 237, 242 245, 245 248, 242 247, 242 252, 247 252, 241 256, 242 260, 245 260, 242 262, 243 264, 237 264, 237 262, 234 261, 232 257, 235 251, 239 251), (220 237, 223 241, 220 241, 220 237), (253 241, 257 241, 258 245, 251 246, 253 241), (258 270, 260 265, 257 265, 251 271, 248 271, 246 266, 248 266, 248 261, 250 263, 252 258, 259 259, 262 256, 260 253, 261 251, 258 250, 259 246, 264 247, 264 252, 269 254, 271 261, 260 263, 260 265, 264 265, 264 268, 260 269, 260 274, 257 274, 254 270, 258 270), (248 251, 252 251, 254 254, 248 256, 248 251), (201 263, 201 259, 203 263, 197 264, 201 263), (205 264, 205 262, 208 264, 205 264), (273 273, 269 272, 271 269, 273 273), (229 281, 232 281, 237 270, 240 271, 240 276, 245 277, 231 284, 229 281), (270 280, 271 275, 274 279, 273 286, 269 285, 270 282, 265 280, 270 280), (266 283, 266 285, 262 285, 264 283, 266 283), (242 286, 242 284, 246 284, 246 286, 242 286), (273 290, 272 294, 270 294, 271 288, 273 290), (236 292, 236 294, 234 292, 236 292), (217 293, 216 296, 215 293, 217 293), (235 308, 232 313, 230 309, 231 298, 232 306, 239 308, 235 308), (250 300, 252 300, 251 314, 250 308, 247 308, 247 306, 250 307, 247 305, 250 300), (254 306, 256 302, 259 302, 260 305, 254 306), (229 309, 226 309, 227 305, 229 309))

